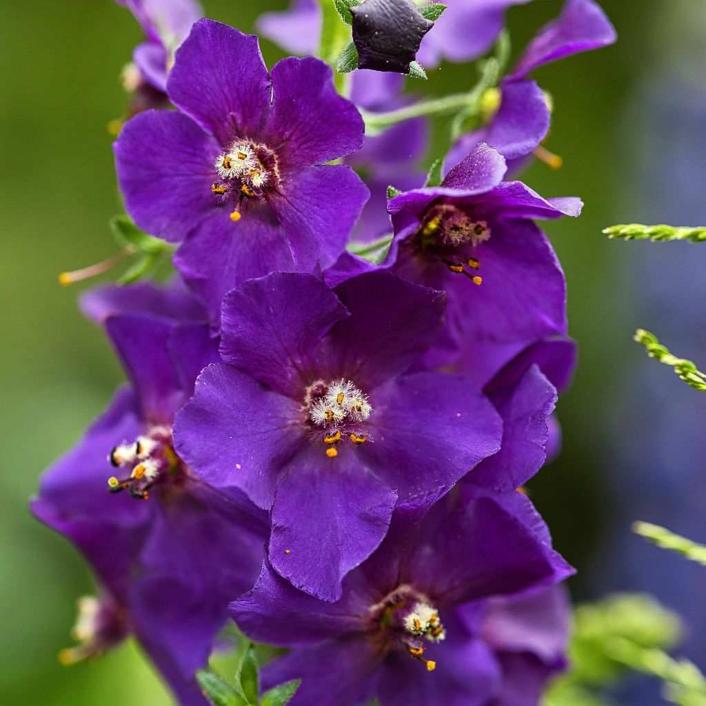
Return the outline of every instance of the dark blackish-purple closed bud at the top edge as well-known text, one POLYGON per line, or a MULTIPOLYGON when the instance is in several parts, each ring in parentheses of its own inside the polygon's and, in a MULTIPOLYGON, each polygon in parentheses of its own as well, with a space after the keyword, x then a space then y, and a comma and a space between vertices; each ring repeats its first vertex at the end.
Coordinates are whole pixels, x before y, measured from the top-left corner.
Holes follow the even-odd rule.
POLYGON ((421 38, 434 23, 411 0, 366 0, 351 8, 358 68, 409 73, 421 38))

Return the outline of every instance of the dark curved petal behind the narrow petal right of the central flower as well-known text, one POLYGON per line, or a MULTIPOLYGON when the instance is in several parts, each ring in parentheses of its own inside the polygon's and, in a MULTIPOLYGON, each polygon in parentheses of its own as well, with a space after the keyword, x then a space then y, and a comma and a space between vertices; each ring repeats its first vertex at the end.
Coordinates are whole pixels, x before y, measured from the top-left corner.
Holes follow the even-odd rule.
POLYGON ((576 366, 576 343, 570 338, 548 338, 520 350, 485 386, 493 402, 503 400, 532 365, 539 366, 552 385, 562 392, 568 387, 576 366))

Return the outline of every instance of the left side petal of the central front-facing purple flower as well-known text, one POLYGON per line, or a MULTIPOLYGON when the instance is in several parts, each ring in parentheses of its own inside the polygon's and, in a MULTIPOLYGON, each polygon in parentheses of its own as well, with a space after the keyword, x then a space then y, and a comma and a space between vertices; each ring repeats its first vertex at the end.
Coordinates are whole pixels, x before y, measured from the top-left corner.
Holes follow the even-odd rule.
POLYGON ((235 486, 265 510, 302 443, 301 402, 270 392, 232 366, 208 366, 174 419, 174 448, 215 487, 235 486))

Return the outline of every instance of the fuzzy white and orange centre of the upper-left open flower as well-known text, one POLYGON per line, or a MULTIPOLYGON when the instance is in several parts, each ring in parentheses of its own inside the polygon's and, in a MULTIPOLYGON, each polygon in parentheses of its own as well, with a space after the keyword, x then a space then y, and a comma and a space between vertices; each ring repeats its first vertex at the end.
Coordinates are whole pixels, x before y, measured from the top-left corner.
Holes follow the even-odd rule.
POLYGON ((261 198, 279 174, 274 152, 248 140, 235 140, 213 166, 217 179, 211 184, 211 191, 222 203, 234 206, 230 214, 234 222, 241 218, 243 200, 261 198))

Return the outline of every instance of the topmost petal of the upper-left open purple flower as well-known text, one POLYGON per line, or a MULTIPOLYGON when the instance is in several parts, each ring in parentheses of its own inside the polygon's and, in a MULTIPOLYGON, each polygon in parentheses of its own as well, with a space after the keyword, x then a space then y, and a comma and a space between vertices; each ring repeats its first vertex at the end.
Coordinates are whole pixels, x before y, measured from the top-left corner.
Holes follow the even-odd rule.
POLYGON ((257 133, 270 109, 270 76, 258 38, 199 20, 177 49, 167 93, 222 147, 257 133))

